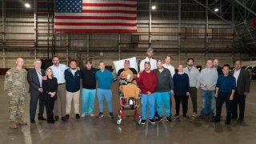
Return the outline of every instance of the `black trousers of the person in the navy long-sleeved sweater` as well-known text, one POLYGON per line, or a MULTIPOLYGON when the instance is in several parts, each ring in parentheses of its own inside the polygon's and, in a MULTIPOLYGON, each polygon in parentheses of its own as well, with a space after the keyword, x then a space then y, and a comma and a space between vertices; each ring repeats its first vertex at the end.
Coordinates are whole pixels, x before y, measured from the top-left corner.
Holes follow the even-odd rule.
POLYGON ((186 95, 176 95, 174 94, 174 99, 175 99, 175 108, 176 108, 176 114, 179 114, 179 107, 182 102, 182 112, 183 114, 187 113, 187 99, 188 96, 186 95))

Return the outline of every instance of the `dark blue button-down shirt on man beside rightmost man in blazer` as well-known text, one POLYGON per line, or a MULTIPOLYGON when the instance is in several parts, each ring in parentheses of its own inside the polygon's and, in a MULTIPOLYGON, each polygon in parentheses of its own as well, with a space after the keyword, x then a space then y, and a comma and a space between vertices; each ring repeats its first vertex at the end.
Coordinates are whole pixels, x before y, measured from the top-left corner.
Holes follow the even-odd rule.
POLYGON ((218 76, 216 87, 218 87, 218 91, 222 93, 231 93, 232 90, 235 90, 235 78, 230 74, 226 77, 221 74, 218 76))

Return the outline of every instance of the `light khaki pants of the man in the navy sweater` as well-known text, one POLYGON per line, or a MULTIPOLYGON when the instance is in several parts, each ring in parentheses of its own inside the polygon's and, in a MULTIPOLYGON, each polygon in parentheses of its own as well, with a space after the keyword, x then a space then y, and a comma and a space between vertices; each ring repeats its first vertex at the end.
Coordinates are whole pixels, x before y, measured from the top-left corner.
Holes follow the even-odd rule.
POLYGON ((66 91, 66 114, 70 114, 72 99, 74 102, 74 114, 79 114, 79 95, 80 90, 74 93, 66 91))

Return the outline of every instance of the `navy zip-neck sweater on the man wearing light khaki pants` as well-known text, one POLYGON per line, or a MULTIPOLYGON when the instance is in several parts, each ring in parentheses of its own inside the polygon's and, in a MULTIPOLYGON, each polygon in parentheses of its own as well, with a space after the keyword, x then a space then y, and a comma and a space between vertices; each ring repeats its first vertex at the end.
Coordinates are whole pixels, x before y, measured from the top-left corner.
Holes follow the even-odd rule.
POLYGON ((74 93, 80 90, 80 78, 81 78, 80 70, 76 71, 73 75, 70 69, 66 69, 64 72, 64 75, 66 79, 66 91, 70 93, 74 93))

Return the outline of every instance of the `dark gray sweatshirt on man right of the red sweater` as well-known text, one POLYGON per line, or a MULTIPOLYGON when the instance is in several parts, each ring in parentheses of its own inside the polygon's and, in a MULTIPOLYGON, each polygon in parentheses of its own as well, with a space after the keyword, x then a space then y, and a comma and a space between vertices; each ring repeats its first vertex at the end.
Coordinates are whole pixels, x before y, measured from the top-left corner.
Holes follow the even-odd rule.
POLYGON ((158 76, 158 87, 156 92, 167 92, 174 90, 174 82, 170 74, 170 70, 164 68, 162 73, 160 73, 158 69, 154 69, 154 72, 158 76))

